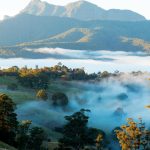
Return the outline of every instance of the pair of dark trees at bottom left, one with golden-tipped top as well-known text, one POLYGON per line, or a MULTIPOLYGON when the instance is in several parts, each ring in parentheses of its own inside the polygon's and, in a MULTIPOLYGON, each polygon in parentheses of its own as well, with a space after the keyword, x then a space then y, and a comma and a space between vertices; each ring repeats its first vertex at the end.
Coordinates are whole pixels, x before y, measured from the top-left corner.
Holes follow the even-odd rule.
POLYGON ((16 134, 16 142, 19 150, 40 150, 43 140, 47 139, 41 127, 30 127, 31 121, 20 122, 16 134))

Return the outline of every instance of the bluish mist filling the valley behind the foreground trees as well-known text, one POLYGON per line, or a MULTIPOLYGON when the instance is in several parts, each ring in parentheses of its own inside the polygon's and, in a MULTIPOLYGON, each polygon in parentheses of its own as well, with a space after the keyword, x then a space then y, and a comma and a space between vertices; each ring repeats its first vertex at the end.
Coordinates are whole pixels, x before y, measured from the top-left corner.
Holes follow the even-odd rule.
MULTIPOLYGON (((145 108, 150 104, 150 74, 121 75, 96 82, 70 82, 70 86, 78 89, 66 93, 69 104, 66 108, 53 107, 50 100, 31 101, 18 105, 17 113, 21 120, 29 119, 33 123, 54 128, 64 123, 64 116, 90 109, 89 126, 105 131, 126 122, 126 118, 142 117, 150 126, 150 111, 145 108)), ((62 89, 63 90, 63 89, 62 89)))

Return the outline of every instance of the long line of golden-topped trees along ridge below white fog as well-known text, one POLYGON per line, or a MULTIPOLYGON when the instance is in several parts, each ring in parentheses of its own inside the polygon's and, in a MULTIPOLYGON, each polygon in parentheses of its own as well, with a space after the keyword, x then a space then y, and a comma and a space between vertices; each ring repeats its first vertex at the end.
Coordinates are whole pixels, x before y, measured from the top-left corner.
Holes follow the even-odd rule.
MULTIPOLYGON (((114 73, 116 74, 116 73, 114 73)), ((51 80, 95 80, 98 78, 106 78, 112 76, 113 74, 107 71, 88 74, 85 72, 84 68, 68 68, 61 63, 53 67, 44 67, 35 69, 32 68, 19 68, 17 66, 10 67, 8 69, 0 70, 1 76, 15 76, 19 83, 27 88, 32 89, 47 89, 49 81, 51 80)), ((8 87, 10 89, 15 89, 14 85, 8 87)))

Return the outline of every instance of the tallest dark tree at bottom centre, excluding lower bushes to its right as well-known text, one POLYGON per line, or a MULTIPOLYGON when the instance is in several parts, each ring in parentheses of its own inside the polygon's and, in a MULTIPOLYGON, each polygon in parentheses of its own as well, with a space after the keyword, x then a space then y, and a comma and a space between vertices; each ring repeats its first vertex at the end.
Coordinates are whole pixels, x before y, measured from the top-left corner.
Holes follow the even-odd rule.
POLYGON ((76 150, 84 148, 88 144, 88 119, 85 112, 89 110, 81 109, 71 116, 66 116, 67 121, 63 129, 63 138, 60 139, 60 147, 72 147, 76 150))

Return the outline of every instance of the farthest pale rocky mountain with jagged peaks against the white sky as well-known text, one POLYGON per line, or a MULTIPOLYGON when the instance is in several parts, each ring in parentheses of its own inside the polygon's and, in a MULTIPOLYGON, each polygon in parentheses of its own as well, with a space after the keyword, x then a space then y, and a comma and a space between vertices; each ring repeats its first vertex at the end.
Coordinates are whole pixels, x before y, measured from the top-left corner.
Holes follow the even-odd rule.
POLYGON ((66 6, 56 6, 40 0, 31 0, 21 13, 36 16, 69 17, 79 20, 143 21, 145 18, 130 10, 105 10, 88 1, 77 1, 66 6))

